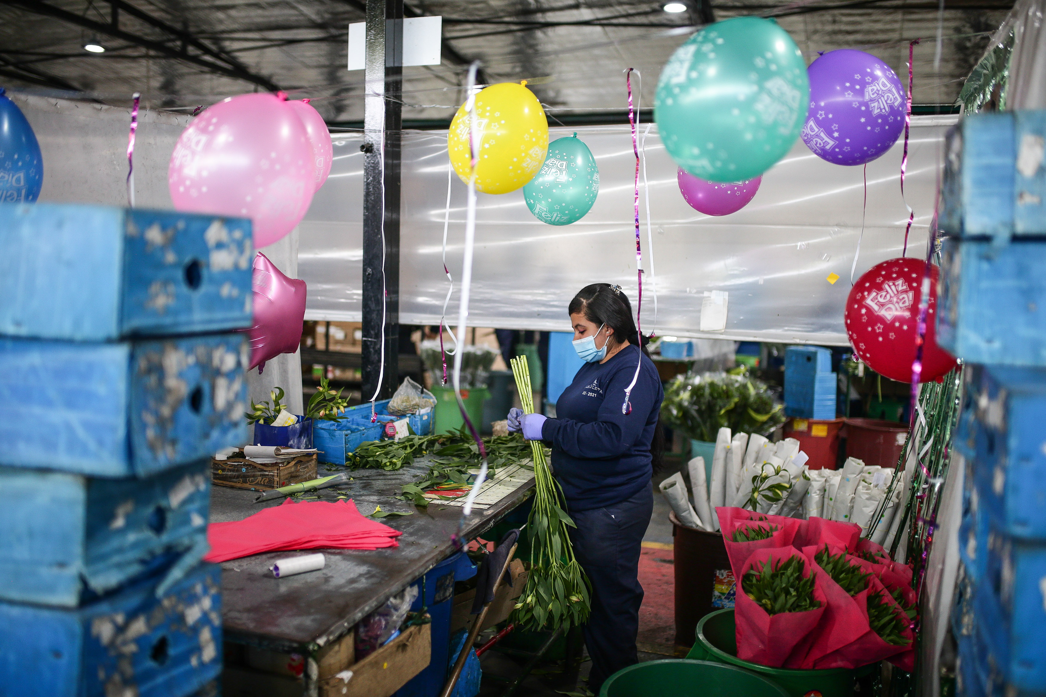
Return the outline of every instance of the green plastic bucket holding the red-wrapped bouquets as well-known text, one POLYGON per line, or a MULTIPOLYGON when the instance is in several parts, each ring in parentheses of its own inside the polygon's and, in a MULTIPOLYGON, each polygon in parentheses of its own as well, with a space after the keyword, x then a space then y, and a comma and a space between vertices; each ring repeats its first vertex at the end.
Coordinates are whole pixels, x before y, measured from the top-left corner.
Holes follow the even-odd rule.
POLYGON ((865 669, 832 668, 821 671, 796 671, 768 668, 737 657, 737 637, 733 624, 733 608, 706 614, 698 623, 698 641, 686 655, 697 660, 712 660, 740 666, 758 673, 780 686, 790 697, 803 697, 816 691, 821 697, 852 697, 858 671, 865 669))

